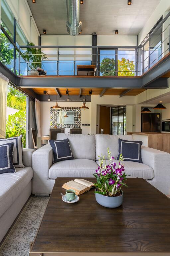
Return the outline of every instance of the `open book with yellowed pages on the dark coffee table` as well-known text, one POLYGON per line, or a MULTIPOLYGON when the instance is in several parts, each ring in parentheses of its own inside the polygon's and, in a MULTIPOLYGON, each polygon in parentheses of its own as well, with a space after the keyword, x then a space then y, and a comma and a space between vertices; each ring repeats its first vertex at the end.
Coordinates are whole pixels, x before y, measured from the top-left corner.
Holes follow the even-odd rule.
POLYGON ((81 195, 84 192, 89 191, 92 187, 95 187, 95 185, 92 182, 84 179, 70 180, 69 182, 64 183, 62 186, 62 188, 66 190, 74 189, 76 195, 81 195))

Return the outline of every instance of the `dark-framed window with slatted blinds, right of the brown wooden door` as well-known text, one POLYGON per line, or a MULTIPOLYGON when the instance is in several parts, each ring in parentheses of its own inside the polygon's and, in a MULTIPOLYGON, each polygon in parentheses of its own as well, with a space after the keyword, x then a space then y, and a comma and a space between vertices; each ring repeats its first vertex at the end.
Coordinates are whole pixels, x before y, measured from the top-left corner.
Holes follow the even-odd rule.
POLYGON ((111 134, 126 135, 126 106, 111 108, 111 134))

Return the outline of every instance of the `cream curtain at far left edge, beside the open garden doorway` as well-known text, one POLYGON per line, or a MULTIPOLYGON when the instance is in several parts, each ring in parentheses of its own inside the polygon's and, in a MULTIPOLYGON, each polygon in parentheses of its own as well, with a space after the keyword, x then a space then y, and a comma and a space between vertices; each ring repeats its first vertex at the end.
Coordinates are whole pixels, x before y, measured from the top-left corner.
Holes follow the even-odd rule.
POLYGON ((0 73, 0 138, 5 138, 9 79, 0 73))

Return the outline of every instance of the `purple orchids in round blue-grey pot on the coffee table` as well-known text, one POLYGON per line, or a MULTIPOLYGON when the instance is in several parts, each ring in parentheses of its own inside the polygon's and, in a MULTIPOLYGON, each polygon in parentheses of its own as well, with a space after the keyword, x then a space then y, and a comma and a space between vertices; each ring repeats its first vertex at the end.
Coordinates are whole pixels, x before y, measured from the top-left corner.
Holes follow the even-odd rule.
POLYGON ((124 165, 122 164, 123 156, 120 155, 119 166, 116 168, 114 157, 111 156, 108 148, 109 164, 106 164, 105 156, 99 157, 100 166, 96 170, 96 174, 93 174, 97 183, 95 183, 96 201, 105 207, 115 208, 123 203, 123 190, 122 187, 126 186, 125 180, 127 180, 127 174, 122 173, 124 165))

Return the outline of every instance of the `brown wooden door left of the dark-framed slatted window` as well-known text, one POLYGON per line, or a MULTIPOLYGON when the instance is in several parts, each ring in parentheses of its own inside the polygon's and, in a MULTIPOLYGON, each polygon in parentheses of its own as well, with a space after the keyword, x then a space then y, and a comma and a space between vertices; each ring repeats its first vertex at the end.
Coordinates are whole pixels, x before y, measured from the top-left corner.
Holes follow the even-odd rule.
POLYGON ((99 132, 101 129, 103 134, 110 134, 110 107, 100 106, 99 132))

